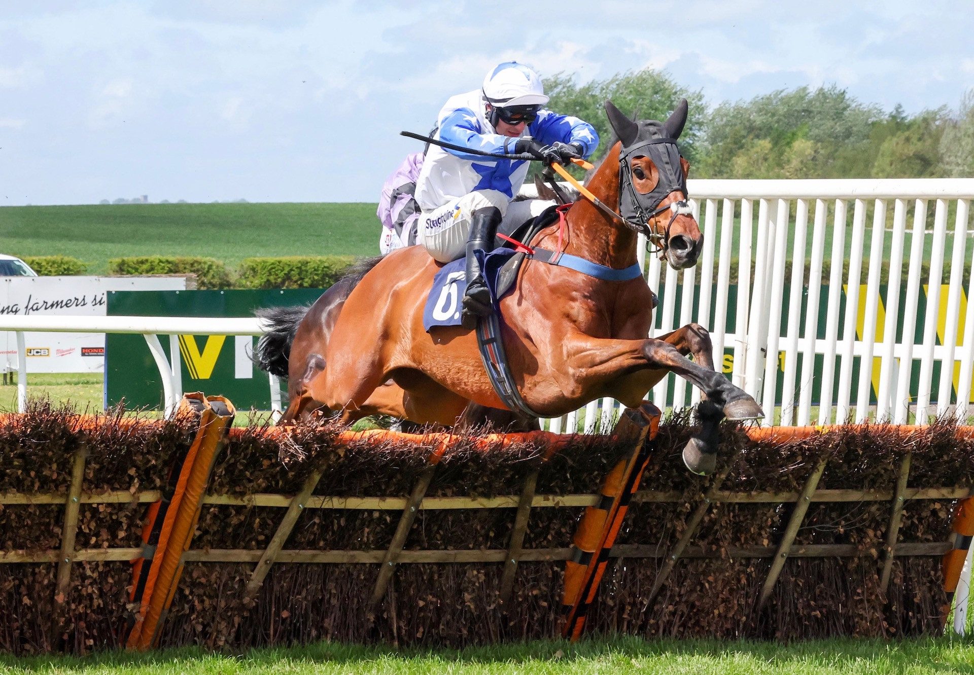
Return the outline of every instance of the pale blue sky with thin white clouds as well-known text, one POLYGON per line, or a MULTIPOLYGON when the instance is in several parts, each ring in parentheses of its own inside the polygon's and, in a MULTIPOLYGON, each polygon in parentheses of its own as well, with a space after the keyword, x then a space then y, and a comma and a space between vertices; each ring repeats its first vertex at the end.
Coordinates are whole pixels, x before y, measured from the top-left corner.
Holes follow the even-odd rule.
POLYGON ((835 84, 883 109, 974 87, 967 2, 0 0, 0 206, 376 202, 500 61, 651 67, 710 106, 835 84))

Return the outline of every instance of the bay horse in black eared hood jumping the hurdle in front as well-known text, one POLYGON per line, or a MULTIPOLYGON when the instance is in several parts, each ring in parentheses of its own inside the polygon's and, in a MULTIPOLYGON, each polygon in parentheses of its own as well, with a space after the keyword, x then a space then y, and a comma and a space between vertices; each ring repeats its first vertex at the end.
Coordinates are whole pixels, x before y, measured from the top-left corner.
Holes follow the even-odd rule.
MULTIPOLYGON (((611 101, 606 111, 619 141, 586 186, 603 208, 578 201, 568 208, 562 232, 553 224, 529 245, 554 249, 560 244, 566 253, 618 270, 636 263, 642 231, 671 267, 692 267, 703 235, 686 207, 689 165, 676 148, 687 101, 661 124, 630 120, 611 101), (616 206, 622 215, 605 205, 616 206)), ((270 330, 255 360, 288 379, 290 403, 282 420, 317 410, 348 423, 380 414, 453 426, 468 419, 465 411, 469 416, 475 406, 506 410, 481 362, 475 333, 461 326, 428 333, 423 327, 424 305, 438 269, 423 246, 400 248, 360 263, 308 310, 259 313, 270 330)), ((656 296, 641 276, 604 281, 529 258, 499 306, 518 391, 545 417, 604 396, 636 407, 674 372, 699 388, 709 406, 709 415, 701 415, 705 433, 684 452, 691 470, 707 473, 714 467, 720 417, 763 415, 749 394, 714 371, 709 334, 702 326, 691 323, 647 337, 656 296)))

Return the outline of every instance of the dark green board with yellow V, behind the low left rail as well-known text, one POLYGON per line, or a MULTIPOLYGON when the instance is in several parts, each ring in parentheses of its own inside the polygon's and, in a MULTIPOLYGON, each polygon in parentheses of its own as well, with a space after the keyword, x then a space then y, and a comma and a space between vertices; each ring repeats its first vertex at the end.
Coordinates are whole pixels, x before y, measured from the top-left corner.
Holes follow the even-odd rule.
MULTIPOLYGON (((108 293, 108 316, 252 317, 268 307, 304 305, 323 291, 296 290, 166 290, 108 293)), ((179 354, 184 392, 223 394, 238 408, 269 410, 267 373, 249 360, 257 338, 249 335, 180 335, 179 354)), ((169 340, 161 336, 169 352, 169 340)), ((159 369, 141 335, 109 334, 105 339, 105 405, 122 399, 130 408, 163 407, 159 369)))

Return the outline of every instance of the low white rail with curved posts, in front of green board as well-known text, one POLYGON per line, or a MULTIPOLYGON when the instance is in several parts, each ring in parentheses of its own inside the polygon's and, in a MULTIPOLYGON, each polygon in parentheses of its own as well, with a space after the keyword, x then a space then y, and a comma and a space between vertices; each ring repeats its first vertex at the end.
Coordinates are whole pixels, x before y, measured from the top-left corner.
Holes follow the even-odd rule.
MULTIPOLYGON (((0 317, 0 330, 12 330, 17 334, 17 409, 27 407, 27 366, 24 331, 128 333, 145 338, 149 351, 159 368, 163 381, 166 415, 171 415, 182 395, 182 368, 179 356, 179 335, 263 335, 264 324, 260 319, 229 319, 227 317, 65 317, 40 316, 0 317), (159 341, 160 335, 169 335, 169 358, 159 341)), ((281 386, 277 376, 269 375, 271 409, 281 414, 281 386)))

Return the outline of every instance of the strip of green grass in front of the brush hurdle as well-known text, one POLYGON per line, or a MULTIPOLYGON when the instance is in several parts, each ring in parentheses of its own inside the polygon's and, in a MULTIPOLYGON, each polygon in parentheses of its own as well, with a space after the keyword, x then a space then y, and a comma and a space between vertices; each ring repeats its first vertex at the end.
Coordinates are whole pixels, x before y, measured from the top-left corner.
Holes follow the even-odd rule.
POLYGON ((612 637, 575 645, 541 641, 453 650, 396 650, 318 643, 243 654, 197 649, 149 654, 106 652, 86 657, 0 656, 0 673, 974 673, 974 642, 821 640, 774 642, 643 640, 612 637))

